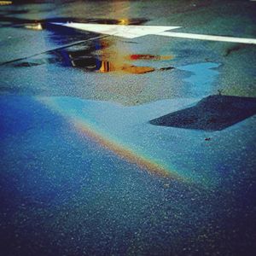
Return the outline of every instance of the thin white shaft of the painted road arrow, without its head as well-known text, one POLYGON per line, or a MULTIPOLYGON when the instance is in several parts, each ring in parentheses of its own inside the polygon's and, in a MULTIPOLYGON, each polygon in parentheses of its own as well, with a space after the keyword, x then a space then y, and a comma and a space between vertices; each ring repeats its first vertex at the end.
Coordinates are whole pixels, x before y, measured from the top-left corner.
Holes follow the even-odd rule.
POLYGON ((253 39, 253 38, 232 38, 232 37, 211 36, 211 35, 201 35, 201 34, 191 34, 191 33, 181 33, 181 32, 160 32, 158 33, 158 35, 171 37, 171 38, 189 38, 189 39, 230 42, 230 43, 240 43, 240 44, 256 44, 256 39, 253 39))

